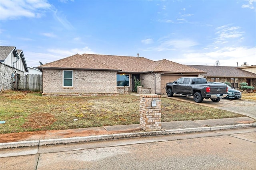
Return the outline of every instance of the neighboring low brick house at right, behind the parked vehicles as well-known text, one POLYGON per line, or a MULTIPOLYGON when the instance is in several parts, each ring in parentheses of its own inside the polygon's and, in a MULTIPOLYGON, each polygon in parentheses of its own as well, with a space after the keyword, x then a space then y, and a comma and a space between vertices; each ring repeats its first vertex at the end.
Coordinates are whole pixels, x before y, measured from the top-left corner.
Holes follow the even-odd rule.
POLYGON ((206 77, 209 82, 230 82, 233 88, 238 88, 240 83, 247 82, 249 86, 254 86, 254 88, 256 88, 256 74, 244 70, 246 69, 246 66, 187 66, 206 71, 207 74, 204 74, 204 77, 206 77))

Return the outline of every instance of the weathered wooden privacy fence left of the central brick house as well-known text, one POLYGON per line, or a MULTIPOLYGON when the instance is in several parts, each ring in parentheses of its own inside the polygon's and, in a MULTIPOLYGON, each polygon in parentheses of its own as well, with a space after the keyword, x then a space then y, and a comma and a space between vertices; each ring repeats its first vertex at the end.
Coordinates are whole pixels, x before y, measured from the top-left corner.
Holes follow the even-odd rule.
POLYGON ((26 74, 18 78, 18 89, 33 92, 42 91, 43 79, 40 74, 26 74))

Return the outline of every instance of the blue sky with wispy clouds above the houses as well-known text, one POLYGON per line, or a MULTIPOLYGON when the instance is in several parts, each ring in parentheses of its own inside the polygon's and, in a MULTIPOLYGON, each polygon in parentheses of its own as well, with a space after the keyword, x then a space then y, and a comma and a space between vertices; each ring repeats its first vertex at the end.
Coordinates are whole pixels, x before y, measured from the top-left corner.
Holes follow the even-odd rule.
POLYGON ((0 45, 28 66, 77 53, 256 65, 256 0, 0 0, 0 45))

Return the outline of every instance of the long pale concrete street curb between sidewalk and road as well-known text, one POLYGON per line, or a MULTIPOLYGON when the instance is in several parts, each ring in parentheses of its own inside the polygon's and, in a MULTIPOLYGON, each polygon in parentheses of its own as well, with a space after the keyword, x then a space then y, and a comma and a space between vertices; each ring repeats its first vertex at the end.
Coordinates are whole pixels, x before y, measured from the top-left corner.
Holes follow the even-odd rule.
POLYGON ((228 130, 228 129, 242 129, 242 128, 251 128, 251 127, 256 127, 256 123, 0 143, 0 149, 86 143, 86 142, 107 141, 107 140, 115 140, 115 139, 128 139, 128 138, 160 136, 160 135, 174 135, 174 134, 183 134, 183 133, 197 133, 197 132, 228 130))

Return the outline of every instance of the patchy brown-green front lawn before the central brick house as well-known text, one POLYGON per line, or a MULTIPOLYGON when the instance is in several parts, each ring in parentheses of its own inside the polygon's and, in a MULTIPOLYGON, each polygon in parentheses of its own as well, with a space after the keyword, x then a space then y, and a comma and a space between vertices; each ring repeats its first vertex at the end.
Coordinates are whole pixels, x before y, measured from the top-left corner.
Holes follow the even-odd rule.
MULTIPOLYGON (((162 98, 162 122, 244 117, 212 107, 162 98)), ((0 133, 139 123, 139 96, 45 97, 36 92, 0 94, 0 133)))

